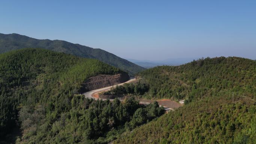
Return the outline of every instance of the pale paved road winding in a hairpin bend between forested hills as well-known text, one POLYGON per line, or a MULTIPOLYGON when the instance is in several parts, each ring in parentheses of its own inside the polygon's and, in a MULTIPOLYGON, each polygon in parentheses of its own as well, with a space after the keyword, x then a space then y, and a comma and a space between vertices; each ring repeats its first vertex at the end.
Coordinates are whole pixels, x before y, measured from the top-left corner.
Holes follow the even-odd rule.
MULTIPOLYGON (((134 78, 134 79, 130 79, 130 80, 128 80, 127 82, 118 84, 118 86, 124 85, 125 83, 134 82, 135 80, 136 80, 135 78, 134 78)), ((116 85, 114 86, 114 88, 115 88, 115 87, 116 87, 116 85)), ((85 92, 85 93, 83 93, 83 95, 85 95, 86 98, 92 98, 92 99, 97 100, 97 99, 101 99, 101 98, 96 98, 96 97, 92 96, 93 94, 98 93, 98 92, 101 92, 101 91, 110 90, 111 88, 112 88, 112 86, 108 86, 108 87, 106 87, 106 88, 101 88, 101 89, 95 89, 95 90, 93 90, 93 91, 85 92)), ((102 99, 102 100, 105 101, 105 100, 107 100, 107 99, 102 99)), ((113 100, 114 100, 114 99, 110 99, 110 101, 113 101, 113 100)), ((121 101, 122 101, 122 100, 121 100, 121 101)), ((150 102, 140 101, 140 104, 150 104, 150 102)), ((160 106, 160 107, 163 106, 166 111, 174 110, 173 108, 165 107, 164 105, 159 105, 159 106, 160 106)))

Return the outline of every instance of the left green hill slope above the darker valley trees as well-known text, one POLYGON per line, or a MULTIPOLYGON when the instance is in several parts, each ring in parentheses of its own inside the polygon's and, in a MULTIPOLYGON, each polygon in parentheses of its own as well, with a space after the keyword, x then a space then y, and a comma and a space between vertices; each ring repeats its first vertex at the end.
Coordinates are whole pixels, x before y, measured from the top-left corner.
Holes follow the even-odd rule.
MULTIPOLYGON (((63 94, 76 94, 88 77, 118 73, 122 71, 96 59, 43 49, 0 54, 0 136, 15 126, 19 104, 65 101, 63 94)), ((58 107, 68 107, 64 103, 58 107)))

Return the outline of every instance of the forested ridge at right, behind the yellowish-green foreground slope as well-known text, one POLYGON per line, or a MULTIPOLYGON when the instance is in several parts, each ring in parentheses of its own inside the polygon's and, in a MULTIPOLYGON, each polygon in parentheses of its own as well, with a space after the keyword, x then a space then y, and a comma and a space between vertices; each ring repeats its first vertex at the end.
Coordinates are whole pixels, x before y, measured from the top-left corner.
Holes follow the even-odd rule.
POLYGON ((150 68, 138 76, 149 84, 149 91, 144 95, 147 98, 188 98, 191 101, 217 91, 252 98, 256 95, 256 62, 246 58, 205 58, 180 66, 150 68))

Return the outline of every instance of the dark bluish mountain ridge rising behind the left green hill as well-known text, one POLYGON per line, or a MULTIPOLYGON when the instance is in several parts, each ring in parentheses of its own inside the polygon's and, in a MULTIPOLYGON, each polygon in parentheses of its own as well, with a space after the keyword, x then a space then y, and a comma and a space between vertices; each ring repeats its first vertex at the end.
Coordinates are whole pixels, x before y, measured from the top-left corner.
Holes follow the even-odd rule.
POLYGON ((64 52, 83 58, 95 58, 106 62, 107 64, 121 68, 122 70, 127 71, 129 74, 135 74, 144 70, 143 67, 140 67, 127 61, 126 59, 122 59, 102 49, 94 49, 88 46, 73 44, 63 40, 39 40, 19 34, 0 33, 0 53, 22 48, 43 48, 56 52, 64 52))

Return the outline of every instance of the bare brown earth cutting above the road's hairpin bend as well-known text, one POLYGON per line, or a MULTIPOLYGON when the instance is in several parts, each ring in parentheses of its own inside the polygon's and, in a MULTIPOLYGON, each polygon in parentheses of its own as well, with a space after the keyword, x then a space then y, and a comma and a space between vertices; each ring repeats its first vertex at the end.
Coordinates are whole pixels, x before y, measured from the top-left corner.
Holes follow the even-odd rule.
POLYGON ((94 89, 100 89, 107 86, 117 85, 119 83, 124 83, 130 78, 127 73, 121 73, 116 75, 98 75, 90 77, 85 83, 82 83, 80 93, 86 91, 92 91, 94 89))

